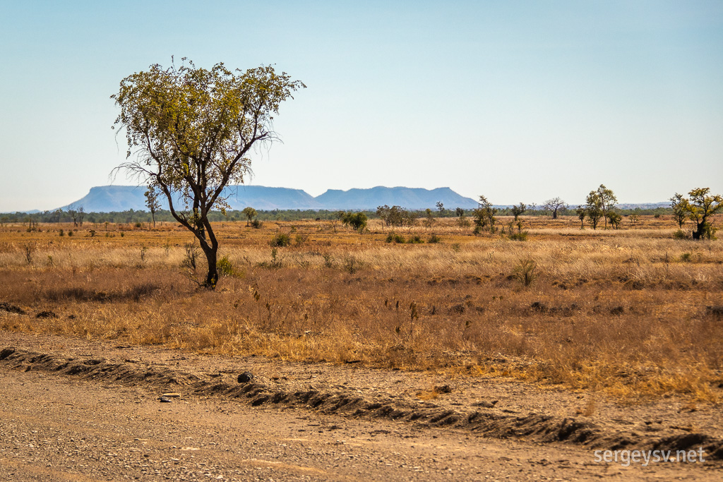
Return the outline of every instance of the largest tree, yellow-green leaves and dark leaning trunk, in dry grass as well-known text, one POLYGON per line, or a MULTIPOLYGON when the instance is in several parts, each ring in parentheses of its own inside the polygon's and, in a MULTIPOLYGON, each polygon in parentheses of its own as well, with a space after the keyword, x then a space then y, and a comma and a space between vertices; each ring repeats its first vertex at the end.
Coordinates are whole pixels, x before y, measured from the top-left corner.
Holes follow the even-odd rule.
POLYGON ((111 95, 121 108, 114 127, 126 129, 126 157, 136 155, 116 169, 166 196, 171 215, 198 239, 208 262, 202 284, 213 289, 218 239, 208 212, 226 211, 223 188, 244 182, 249 150, 278 139, 273 115, 306 86, 272 66, 231 72, 222 63, 209 70, 182 61, 129 75, 111 95))

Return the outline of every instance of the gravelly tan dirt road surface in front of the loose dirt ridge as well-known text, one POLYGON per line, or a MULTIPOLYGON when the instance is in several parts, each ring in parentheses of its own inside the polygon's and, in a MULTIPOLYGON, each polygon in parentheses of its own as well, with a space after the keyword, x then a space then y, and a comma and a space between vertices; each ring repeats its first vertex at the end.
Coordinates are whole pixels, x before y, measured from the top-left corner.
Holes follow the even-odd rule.
POLYGON ((720 462, 625 468, 595 462, 592 449, 573 444, 297 405, 254 407, 188 392, 162 403, 153 384, 33 366, 0 363, 1 481, 721 478, 720 462))

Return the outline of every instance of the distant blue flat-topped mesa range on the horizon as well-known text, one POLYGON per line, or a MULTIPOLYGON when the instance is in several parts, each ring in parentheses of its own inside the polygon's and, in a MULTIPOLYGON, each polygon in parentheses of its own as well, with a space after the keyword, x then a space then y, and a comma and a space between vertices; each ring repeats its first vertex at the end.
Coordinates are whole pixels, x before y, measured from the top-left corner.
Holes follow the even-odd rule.
MULTIPOLYGON (((146 210, 145 186, 97 186, 90 188, 85 197, 61 207, 83 207, 85 212, 111 212, 146 210)), ((375 210, 381 205, 398 205, 411 210, 435 209, 442 202, 448 209, 462 207, 474 209, 477 202, 463 197, 448 187, 422 189, 409 187, 377 186, 371 189, 329 189, 324 194, 312 197, 301 189, 266 186, 228 186, 228 204, 233 210, 252 206, 257 210, 375 210)), ((162 209, 168 209, 168 202, 161 199, 162 209)), ((174 206, 181 206, 174 202, 174 206)))

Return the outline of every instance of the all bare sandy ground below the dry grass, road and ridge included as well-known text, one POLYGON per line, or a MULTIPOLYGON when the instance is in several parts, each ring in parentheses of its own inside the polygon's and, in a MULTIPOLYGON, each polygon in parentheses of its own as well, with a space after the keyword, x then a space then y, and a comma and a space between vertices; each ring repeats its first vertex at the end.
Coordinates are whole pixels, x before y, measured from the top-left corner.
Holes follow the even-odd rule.
POLYGON ((582 416, 589 394, 504 379, 5 332, 0 350, 1 481, 723 478, 720 409, 674 398, 582 416), (682 446, 706 462, 594 455, 682 446))

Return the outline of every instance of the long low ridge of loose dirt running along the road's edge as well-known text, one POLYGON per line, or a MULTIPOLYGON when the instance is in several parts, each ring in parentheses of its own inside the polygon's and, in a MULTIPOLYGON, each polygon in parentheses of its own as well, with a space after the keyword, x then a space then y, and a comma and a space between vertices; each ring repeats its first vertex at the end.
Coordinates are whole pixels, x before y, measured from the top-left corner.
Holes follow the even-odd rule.
POLYGON ((236 376, 226 381, 219 375, 194 374, 166 366, 127 360, 110 363, 98 358, 63 358, 16 348, 0 351, 0 363, 11 369, 46 371, 81 376, 91 380, 108 380, 122 384, 147 384, 168 389, 184 387, 198 396, 226 397, 252 406, 277 405, 303 407, 321 413, 338 413, 351 417, 386 418, 406 421, 416 426, 453 427, 498 438, 521 437, 539 442, 566 442, 595 449, 690 449, 703 447, 711 460, 723 460, 723 440, 701 433, 638 434, 599 426, 576 418, 543 413, 513 414, 495 408, 495 404, 464 411, 440 408, 429 402, 399 400, 370 401, 343 391, 279 390, 251 377, 236 383, 236 376))

